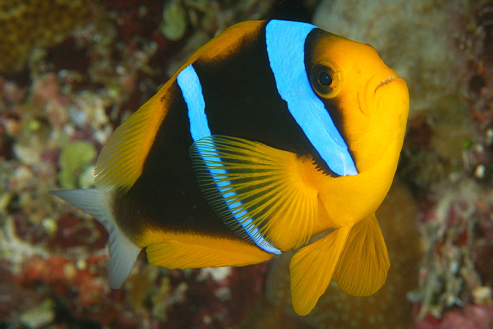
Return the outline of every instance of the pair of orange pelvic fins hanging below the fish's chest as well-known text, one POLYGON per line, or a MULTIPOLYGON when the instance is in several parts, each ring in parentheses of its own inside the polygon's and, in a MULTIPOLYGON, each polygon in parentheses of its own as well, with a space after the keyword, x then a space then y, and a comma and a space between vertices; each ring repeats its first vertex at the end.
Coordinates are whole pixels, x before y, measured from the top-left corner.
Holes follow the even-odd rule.
POLYGON ((370 296, 385 283, 390 266, 375 214, 345 225, 300 249, 291 259, 291 297, 296 313, 306 315, 331 279, 352 296, 370 296))

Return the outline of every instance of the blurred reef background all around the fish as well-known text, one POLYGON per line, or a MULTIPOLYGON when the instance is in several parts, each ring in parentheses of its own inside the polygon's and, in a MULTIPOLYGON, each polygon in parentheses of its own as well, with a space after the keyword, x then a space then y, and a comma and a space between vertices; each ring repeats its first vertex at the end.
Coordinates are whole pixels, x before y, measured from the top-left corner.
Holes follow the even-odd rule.
POLYGON ((0 0, 0 329, 493 328, 493 1, 0 0), (169 270, 141 253, 107 282, 104 228, 48 194, 93 187, 113 130, 198 47, 250 19, 310 22, 373 45, 410 91, 377 211, 383 288, 330 285, 291 306, 287 252, 169 270))

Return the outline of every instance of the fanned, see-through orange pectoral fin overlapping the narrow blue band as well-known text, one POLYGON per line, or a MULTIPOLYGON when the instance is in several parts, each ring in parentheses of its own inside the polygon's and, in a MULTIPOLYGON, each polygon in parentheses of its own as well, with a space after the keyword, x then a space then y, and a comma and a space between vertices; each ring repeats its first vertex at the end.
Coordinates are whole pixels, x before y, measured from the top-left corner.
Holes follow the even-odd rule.
POLYGON ((302 174, 311 162, 262 143, 219 135, 197 140, 190 156, 209 204, 243 238, 264 250, 260 243, 266 240, 285 251, 312 236, 317 190, 302 174))

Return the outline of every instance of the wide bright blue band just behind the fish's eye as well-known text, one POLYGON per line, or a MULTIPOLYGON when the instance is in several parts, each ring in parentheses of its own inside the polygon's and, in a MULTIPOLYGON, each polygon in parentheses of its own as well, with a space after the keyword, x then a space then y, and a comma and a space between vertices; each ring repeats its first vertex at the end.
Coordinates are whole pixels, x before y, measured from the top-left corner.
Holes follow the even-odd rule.
POLYGON ((270 21, 265 31, 270 66, 281 98, 323 161, 340 176, 356 175, 348 146, 307 77, 305 40, 315 28, 308 23, 270 21))

